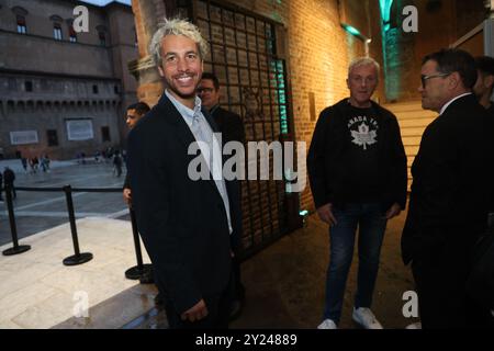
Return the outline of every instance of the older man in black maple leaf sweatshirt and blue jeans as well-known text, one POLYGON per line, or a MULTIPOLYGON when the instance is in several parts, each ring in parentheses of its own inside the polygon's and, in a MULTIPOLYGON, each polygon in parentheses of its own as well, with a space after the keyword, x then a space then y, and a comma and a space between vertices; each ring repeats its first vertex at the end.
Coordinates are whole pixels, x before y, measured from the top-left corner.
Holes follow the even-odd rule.
POLYGON ((406 204, 406 156, 396 117, 371 100, 379 64, 356 58, 348 68, 350 97, 321 112, 307 155, 319 218, 329 225, 330 257, 319 329, 336 329, 359 227, 358 287, 352 319, 382 329, 372 310, 388 219, 406 204))

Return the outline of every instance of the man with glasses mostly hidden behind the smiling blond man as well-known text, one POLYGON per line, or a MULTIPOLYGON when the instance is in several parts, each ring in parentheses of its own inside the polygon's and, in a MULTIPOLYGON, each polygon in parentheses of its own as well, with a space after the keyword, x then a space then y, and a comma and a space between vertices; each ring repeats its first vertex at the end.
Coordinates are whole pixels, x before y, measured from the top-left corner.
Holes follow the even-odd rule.
MULTIPOLYGON (((220 80, 214 73, 202 73, 201 82, 198 87, 198 95, 201 98, 202 105, 207 109, 214 122, 216 122, 222 133, 223 143, 239 141, 244 144, 245 129, 242 117, 220 106, 220 80)), ((232 304, 231 320, 240 316, 245 302, 245 286, 240 280, 240 260, 238 252, 235 252, 233 258, 233 269, 235 272, 235 295, 232 304)))

